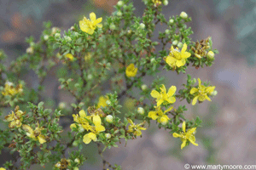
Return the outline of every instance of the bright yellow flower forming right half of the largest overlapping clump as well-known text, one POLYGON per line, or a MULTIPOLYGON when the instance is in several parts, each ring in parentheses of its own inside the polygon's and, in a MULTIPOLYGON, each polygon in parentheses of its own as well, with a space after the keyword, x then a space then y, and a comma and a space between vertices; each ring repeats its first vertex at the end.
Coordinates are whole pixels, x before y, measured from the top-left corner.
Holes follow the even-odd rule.
POLYGON ((84 144, 89 144, 91 140, 96 141, 96 135, 105 131, 105 127, 102 126, 102 119, 100 116, 96 115, 92 117, 92 122, 94 123, 94 127, 90 126, 90 133, 84 135, 84 144))

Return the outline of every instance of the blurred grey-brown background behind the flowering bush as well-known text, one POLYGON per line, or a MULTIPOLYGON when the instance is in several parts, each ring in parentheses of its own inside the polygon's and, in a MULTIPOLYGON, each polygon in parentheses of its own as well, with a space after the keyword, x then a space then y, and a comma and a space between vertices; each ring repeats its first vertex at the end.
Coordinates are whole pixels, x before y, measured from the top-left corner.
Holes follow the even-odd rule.
MULTIPOLYGON (((94 11, 97 16, 112 14, 118 0, 0 0, 0 48, 8 54, 8 62, 26 53, 25 37, 36 40, 43 31, 43 21, 50 20, 53 26, 67 30, 83 16, 94 11)), ((133 0, 137 15, 142 15, 141 0, 133 0)), ((104 156, 123 169, 170 170, 184 169, 189 164, 253 165, 256 157, 256 1, 255 0, 169 0, 163 8, 166 18, 182 11, 192 17, 188 26, 195 32, 192 41, 212 37, 217 48, 215 64, 210 68, 189 67, 192 77, 211 81, 218 95, 212 102, 188 106, 186 117, 200 116, 202 127, 195 135, 199 146, 190 144, 180 150, 180 139, 153 123, 143 138, 119 144, 119 148, 106 150, 104 156)), ((161 27, 158 27, 162 30, 161 27)), ((180 87, 186 75, 162 71, 168 84, 180 87)), ((33 75, 26 83, 33 84, 33 75)), ((47 81, 47 80, 46 80, 47 81)), ((147 78, 145 82, 150 82, 147 78)), ((53 94, 57 82, 44 82, 46 95, 53 94)), ((62 100, 68 99, 65 94, 62 100)), ((129 101, 128 101, 129 102, 129 101)), ((186 105, 185 101, 177 105, 186 105)), ((89 160, 80 169, 102 169, 102 160, 96 154, 96 144, 90 144, 89 160)), ((4 153, 4 152, 3 152, 4 153)), ((9 161, 0 155, 0 165, 9 161)), ((31 169, 50 169, 34 166, 31 169)))

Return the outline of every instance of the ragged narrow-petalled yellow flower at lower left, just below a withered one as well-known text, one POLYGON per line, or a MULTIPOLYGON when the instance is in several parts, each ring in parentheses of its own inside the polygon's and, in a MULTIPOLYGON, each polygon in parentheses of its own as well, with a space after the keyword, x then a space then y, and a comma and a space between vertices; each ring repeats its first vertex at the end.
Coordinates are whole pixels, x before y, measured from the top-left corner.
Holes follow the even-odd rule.
POLYGON ((40 144, 44 144, 46 142, 45 136, 41 134, 41 131, 44 130, 44 127, 39 127, 39 123, 37 123, 37 127, 35 130, 28 125, 22 125, 22 128, 26 131, 26 136, 31 139, 38 140, 40 144))

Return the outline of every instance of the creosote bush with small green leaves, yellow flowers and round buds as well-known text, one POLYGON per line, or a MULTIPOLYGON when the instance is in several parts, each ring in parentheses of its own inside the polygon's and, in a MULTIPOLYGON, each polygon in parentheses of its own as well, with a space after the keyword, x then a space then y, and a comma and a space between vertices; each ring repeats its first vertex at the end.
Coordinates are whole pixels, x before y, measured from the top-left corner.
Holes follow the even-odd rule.
POLYGON ((103 169, 121 169, 104 158, 104 150, 143 137, 150 123, 181 139, 181 149, 198 145, 195 132, 201 119, 187 120, 186 105, 176 101, 211 101, 215 87, 189 74, 183 87, 169 87, 156 73, 164 69, 186 74, 188 65, 211 66, 218 51, 212 49, 211 37, 191 41, 193 31, 186 25, 191 18, 185 12, 166 20, 161 10, 167 0, 143 2, 141 17, 129 0, 123 0, 105 20, 91 12, 64 33, 47 22, 40 39, 27 38, 26 54, 9 66, 0 52, 0 150, 15 154, 1 170, 33 164, 78 170, 86 161, 82 150, 90 143, 98 146, 103 169), (157 25, 166 30, 156 32, 157 25), (22 80, 28 71, 38 76, 36 88, 22 80), (70 103, 44 96, 44 80, 52 71, 58 90, 73 97, 70 103), (143 77, 153 81, 145 84, 143 77), (130 111, 122 109, 125 98, 134 101, 130 111))

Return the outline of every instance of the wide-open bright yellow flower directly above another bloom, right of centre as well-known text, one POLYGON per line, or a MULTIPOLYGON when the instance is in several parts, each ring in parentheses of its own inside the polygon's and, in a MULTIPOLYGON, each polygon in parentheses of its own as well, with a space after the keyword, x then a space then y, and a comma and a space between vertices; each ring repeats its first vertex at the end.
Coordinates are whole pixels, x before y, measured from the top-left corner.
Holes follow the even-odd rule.
POLYGON ((156 90, 152 90, 151 96, 153 98, 156 98, 157 106, 160 106, 165 101, 169 104, 173 104, 176 101, 175 97, 173 97, 176 89, 176 86, 172 86, 171 88, 169 88, 168 93, 166 94, 166 87, 162 84, 160 88, 161 92, 159 93, 156 90))

